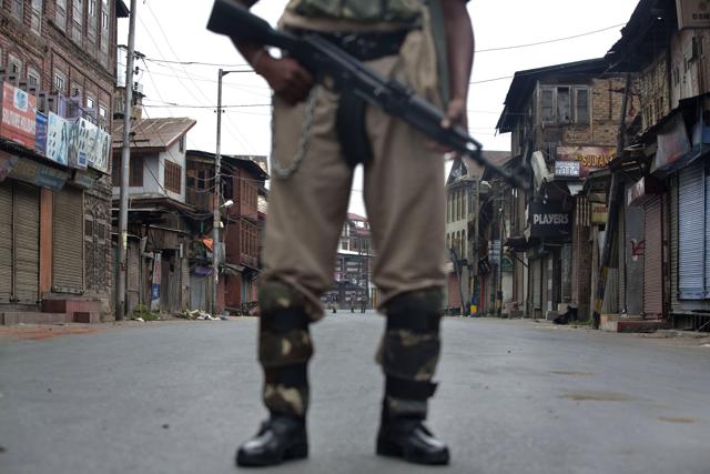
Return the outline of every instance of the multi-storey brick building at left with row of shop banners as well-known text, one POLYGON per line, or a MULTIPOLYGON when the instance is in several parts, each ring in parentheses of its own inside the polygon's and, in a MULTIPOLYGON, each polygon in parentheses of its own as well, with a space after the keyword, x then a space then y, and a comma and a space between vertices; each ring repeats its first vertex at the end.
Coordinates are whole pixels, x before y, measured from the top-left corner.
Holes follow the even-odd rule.
POLYGON ((0 312, 112 317, 110 131, 123 1, 0 8, 0 312))

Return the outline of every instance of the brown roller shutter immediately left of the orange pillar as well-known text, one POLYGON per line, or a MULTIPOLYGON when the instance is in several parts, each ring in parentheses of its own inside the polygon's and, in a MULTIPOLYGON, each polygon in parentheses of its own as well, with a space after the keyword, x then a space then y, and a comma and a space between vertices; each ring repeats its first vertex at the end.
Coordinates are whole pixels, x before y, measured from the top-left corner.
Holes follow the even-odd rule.
POLYGON ((14 300, 37 304, 40 299, 40 192, 14 183, 14 300))

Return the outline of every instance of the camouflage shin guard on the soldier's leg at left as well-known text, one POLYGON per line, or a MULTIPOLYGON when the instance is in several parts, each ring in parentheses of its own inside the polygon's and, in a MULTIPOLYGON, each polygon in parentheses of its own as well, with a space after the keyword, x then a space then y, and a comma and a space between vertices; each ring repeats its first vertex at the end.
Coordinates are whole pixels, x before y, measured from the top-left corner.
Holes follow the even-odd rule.
POLYGON ((304 416, 308 407, 307 362, 313 355, 302 296, 278 281, 258 292, 258 361, 264 367, 264 405, 272 413, 304 416))

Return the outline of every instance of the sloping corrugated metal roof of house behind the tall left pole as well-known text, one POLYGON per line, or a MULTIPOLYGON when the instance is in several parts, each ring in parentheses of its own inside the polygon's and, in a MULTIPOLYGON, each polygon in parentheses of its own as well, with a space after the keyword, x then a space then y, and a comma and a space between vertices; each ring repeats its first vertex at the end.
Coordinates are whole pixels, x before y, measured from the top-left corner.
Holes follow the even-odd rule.
MULTIPOLYGON (((131 125, 131 149, 168 150, 180 137, 187 133, 195 123, 189 118, 144 119, 131 125)), ((112 134, 113 148, 123 141, 123 122, 115 122, 112 134)))

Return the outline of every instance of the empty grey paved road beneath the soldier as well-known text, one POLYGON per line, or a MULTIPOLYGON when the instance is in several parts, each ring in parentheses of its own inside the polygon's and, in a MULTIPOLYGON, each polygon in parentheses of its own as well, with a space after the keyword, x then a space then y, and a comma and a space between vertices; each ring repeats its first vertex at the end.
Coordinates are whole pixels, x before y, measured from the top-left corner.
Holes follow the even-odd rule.
MULTIPOLYGON (((383 320, 313 327, 308 461, 261 472, 424 472, 373 454, 383 320)), ((264 413, 256 321, 0 341, 0 473, 236 472, 264 413)), ((447 319, 433 428, 447 473, 710 472, 710 347, 447 319)), ((428 472, 428 470, 426 470, 428 472)))

